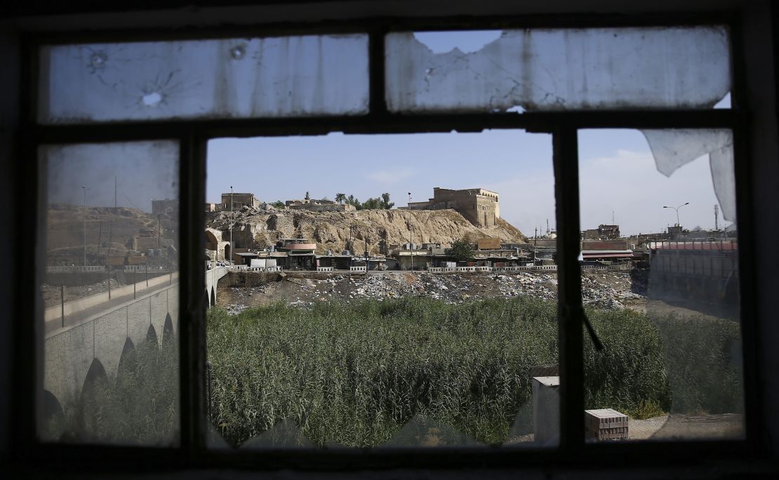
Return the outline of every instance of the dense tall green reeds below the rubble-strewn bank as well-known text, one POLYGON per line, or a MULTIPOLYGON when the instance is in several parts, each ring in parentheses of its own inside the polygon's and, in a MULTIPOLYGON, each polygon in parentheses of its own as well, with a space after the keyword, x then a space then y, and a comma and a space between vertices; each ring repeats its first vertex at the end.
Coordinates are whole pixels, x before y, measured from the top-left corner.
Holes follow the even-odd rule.
MULTIPOLYGON (((532 432, 530 369, 557 362, 556 308, 527 297, 464 305, 407 297, 313 309, 277 304, 238 316, 212 309, 211 419, 234 444, 294 421, 315 445, 365 447, 421 415, 497 445, 532 432)), ((664 342, 662 329, 639 313, 588 316, 606 348, 594 351, 587 341, 587 408, 635 418, 676 407, 737 410, 740 372, 722 354, 738 324, 669 318, 677 331, 664 342), (667 368, 669 358, 676 368, 667 368), (717 395, 699 391, 722 379, 729 386, 717 395), (681 404, 673 402, 674 384, 681 404)))

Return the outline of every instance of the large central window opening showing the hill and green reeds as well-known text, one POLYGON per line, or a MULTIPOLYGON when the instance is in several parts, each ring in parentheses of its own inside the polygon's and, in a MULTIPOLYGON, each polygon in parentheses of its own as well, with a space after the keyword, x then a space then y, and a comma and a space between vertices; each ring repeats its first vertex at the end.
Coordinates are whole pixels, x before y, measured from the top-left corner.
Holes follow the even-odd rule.
POLYGON ((559 443, 551 136, 215 139, 207 173, 212 447, 559 443))

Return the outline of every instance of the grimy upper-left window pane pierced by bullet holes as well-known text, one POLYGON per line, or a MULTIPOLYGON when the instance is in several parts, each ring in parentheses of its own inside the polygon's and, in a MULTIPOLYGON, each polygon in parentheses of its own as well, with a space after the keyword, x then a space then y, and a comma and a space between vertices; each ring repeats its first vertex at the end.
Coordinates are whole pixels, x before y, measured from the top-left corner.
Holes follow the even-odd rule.
POLYGON ((359 115, 368 37, 45 46, 39 88, 43 123, 359 115))

